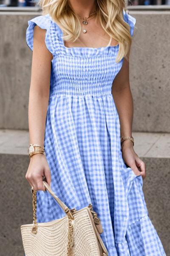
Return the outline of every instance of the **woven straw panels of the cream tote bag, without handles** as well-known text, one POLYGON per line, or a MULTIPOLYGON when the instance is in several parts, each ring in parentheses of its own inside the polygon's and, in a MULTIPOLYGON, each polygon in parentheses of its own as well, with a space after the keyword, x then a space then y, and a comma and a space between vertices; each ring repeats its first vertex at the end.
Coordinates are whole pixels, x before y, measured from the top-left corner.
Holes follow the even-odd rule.
MULTIPOLYGON (((74 214, 74 256, 102 255, 92 225, 87 209, 74 214)), ((67 256, 68 218, 62 218, 51 226, 38 224, 37 234, 31 233, 31 227, 21 226, 26 256, 67 256)))

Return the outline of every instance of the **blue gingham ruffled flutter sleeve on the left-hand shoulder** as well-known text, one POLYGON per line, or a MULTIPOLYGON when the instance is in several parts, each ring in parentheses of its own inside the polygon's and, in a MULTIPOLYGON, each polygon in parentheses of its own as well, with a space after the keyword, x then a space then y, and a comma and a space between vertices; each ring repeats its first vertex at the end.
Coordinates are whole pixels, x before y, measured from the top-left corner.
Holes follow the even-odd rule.
POLYGON ((28 27, 26 29, 26 43, 28 47, 33 51, 33 38, 34 38, 34 26, 39 26, 41 29, 46 29, 45 33, 45 45, 47 49, 54 55, 54 47, 51 41, 51 19, 48 15, 41 15, 28 20, 28 27))

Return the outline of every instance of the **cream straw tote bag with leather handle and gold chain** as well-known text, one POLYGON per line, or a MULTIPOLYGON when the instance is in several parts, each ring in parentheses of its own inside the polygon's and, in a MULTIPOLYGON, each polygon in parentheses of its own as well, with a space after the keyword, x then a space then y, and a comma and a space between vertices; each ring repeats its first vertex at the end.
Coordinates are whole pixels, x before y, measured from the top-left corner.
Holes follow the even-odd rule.
POLYGON ((54 221, 37 223, 37 191, 32 190, 34 221, 20 227, 26 256, 108 256, 100 237, 102 224, 92 204, 79 210, 69 209, 46 181, 43 184, 66 215, 54 221))

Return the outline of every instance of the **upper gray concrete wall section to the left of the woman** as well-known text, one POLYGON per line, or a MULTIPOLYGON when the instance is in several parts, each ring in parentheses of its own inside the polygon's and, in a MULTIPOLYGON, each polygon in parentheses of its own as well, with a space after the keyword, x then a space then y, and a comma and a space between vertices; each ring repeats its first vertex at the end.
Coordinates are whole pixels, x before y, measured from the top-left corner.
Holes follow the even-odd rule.
POLYGON ((33 15, 0 13, 0 127, 28 128, 31 50, 25 40, 33 15))

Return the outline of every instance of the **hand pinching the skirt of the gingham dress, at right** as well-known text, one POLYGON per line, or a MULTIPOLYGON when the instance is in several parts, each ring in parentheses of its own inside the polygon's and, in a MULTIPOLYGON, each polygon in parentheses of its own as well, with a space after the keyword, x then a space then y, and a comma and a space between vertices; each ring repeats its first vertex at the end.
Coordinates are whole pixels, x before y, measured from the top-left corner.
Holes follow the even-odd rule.
POLYGON ((127 166, 129 166, 136 175, 141 175, 142 179, 146 177, 146 166, 135 153, 130 140, 124 140, 122 143, 122 157, 127 166))

